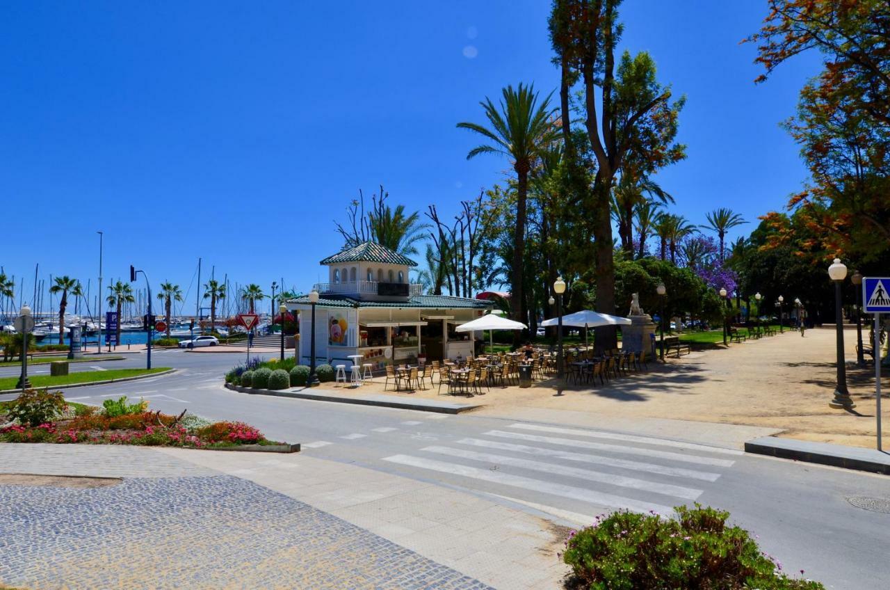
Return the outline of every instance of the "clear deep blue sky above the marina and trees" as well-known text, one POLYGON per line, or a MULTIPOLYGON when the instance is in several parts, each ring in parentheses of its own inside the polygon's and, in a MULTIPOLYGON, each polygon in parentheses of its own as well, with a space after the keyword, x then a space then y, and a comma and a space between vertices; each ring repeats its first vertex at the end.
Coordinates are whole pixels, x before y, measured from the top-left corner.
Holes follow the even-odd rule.
MULTIPOLYGON (((478 142, 455 124, 481 122, 478 102, 506 84, 557 87, 549 4, 6 2, 0 265, 25 275, 26 300, 36 263, 94 290, 102 230, 106 284, 132 263, 185 290, 202 257, 202 278, 215 266, 267 291, 282 276, 308 289, 359 189, 456 212, 503 179, 506 160, 465 160, 478 142)), ((649 51, 687 96, 688 158, 658 181, 693 223, 723 206, 756 223, 805 179, 778 123, 818 56, 755 86, 755 49, 739 41, 765 12, 756 0, 622 7, 622 45, 649 51)))

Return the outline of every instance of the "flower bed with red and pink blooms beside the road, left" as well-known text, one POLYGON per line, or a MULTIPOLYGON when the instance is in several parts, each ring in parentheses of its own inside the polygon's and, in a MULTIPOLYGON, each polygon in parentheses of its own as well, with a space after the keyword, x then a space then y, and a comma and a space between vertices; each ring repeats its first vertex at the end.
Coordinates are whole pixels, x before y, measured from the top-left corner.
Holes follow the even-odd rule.
POLYGON ((185 411, 178 416, 150 412, 148 402, 127 404, 126 397, 106 400, 101 410, 69 406, 61 392, 35 389, 0 407, 0 442, 192 448, 285 445, 267 440, 244 422, 209 422, 185 411))

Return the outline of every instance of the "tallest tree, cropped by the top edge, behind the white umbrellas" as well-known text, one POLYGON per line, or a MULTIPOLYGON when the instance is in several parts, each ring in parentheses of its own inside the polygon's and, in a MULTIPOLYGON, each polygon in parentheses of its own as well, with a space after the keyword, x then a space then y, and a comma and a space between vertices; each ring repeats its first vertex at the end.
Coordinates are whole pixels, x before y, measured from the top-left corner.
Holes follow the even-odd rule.
MULTIPOLYGON (((587 143, 595 162, 590 202, 594 213, 596 309, 615 313, 615 269, 612 247, 611 190, 628 154, 643 174, 684 158, 684 146, 674 143, 683 99, 671 102, 669 87, 655 78, 648 53, 630 53, 615 60, 622 33, 620 0, 554 0, 550 37, 561 66, 563 141, 566 153, 577 153, 570 129, 567 99, 582 86, 582 111, 587 143), (617 70, 616 70, 617 65, 617 70), (597 105, 602 105, 602 110, 597 105)), ((614 328, 597 331, 597 348, 614 348, 614 328)))

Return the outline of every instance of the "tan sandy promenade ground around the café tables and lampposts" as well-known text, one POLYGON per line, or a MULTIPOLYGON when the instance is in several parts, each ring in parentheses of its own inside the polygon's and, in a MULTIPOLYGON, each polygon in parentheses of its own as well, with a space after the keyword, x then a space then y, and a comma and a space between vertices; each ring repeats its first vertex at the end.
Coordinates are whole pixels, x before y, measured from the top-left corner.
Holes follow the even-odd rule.
MULTIPOLYGON (((836 382, 833 326, 808 330, 804 338, 797 332, 785 332, 728 349, 671 358, 666 365, 650 363, 648 373, 613 379, 605 386, 570 388, 561 397, 554 396, 555 380, 548 380, 530 389, 483 389, 485 395, 473 397, 473 403, 484 405, 477 410, 481 414, 525 407, 572 410, 601 418, 723 422, 781 429, 781 436, 789 438, 874 447, 874 367, 860 369, 853 364, 855 342, 855 330, 847 328, 847 381, 856 403, 853 412, 829 407, 836 382)), ((341 389, 356 394, 384 393, 383 381, 377 377, 361 388, 341 389)), ((884 375, 882 382, 884 433, 890 435, 890 376, 884 375)), ((433 389, 395 394, 391 387, 385 393, 434 398, 439 395, 437 388, 438 378, 433 389)), ((442 388, 442 396, 445 391, 442 388)))

